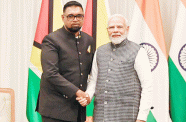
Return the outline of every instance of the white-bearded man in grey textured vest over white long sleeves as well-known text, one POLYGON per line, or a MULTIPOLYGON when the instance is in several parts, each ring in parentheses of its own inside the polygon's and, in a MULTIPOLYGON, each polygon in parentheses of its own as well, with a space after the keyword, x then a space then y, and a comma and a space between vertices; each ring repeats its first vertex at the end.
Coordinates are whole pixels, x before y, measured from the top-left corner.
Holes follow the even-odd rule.
MULTIPOLYGON (((108 21, 111 42, 94 55, 86 93, 94 101, 94 122, 145 122, 152 100, 152 77, 146 51, 126 36, 122 15, 108 21)), ((135 36, 135 35, 134 35, 135 36)), ((76 98, 82 106, 83 98, 76 98)))

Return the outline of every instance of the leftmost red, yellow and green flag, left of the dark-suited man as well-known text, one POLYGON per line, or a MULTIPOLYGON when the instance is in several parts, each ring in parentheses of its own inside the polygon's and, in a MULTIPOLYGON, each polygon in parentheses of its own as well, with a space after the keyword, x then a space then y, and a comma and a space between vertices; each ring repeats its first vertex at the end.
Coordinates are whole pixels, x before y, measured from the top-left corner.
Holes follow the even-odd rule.
POLYGON ((31 58, 28 71, 28 91, 27 91, 27 119, 29 122, 42 122, 41 116, 35 111, 38 93, 40 89, 40 78, 42 73, 40 54, 43 38, 50 32, 49 13, 52 10, 51 1, 42 0, 40 15, 32 47, 31 58))

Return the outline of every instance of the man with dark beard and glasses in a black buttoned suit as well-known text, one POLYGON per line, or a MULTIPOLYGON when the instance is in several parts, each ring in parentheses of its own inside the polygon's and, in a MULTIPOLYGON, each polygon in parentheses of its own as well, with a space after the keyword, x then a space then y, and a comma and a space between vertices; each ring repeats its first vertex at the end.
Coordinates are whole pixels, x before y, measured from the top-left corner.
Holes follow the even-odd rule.
POLYGON ((84 122, 86 107, 76 97, 90 97, 84 91, 94 54, 93 38, 81 32, 82 5, 70 1, 64 5, 64 26, 48 34, 42 42, 40 94, 37 111, 43 122, 84 122))

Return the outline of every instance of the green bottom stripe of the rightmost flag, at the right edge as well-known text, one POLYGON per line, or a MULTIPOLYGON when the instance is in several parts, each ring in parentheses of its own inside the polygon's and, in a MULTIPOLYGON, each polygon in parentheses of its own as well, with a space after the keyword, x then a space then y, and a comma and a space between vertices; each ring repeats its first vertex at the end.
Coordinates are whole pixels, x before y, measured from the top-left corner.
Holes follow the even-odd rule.
POLYGON ((170 110, 173 122, 186 122, 186 83, 169 57, 170 110))

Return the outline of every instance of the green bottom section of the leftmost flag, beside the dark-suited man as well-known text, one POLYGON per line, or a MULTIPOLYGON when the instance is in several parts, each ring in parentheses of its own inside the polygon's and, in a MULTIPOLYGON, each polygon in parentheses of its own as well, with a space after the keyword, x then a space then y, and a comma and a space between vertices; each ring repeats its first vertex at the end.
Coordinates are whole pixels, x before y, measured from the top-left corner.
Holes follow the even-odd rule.
POLYGON ((41 115, 33 109, 37 104, 40 78, 30 68, 28 73, 27 118, 29 122, 42 122, 41 115))

